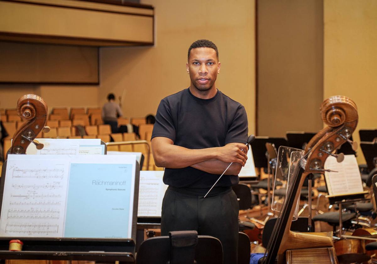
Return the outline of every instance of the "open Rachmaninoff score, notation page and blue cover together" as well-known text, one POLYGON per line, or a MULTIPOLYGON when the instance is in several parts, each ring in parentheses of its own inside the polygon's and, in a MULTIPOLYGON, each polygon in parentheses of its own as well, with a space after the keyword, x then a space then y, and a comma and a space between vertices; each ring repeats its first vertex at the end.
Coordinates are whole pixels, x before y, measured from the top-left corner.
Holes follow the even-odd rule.
POLYGON ((0 236, 130 238, 136 157, 8 155, 0 236))

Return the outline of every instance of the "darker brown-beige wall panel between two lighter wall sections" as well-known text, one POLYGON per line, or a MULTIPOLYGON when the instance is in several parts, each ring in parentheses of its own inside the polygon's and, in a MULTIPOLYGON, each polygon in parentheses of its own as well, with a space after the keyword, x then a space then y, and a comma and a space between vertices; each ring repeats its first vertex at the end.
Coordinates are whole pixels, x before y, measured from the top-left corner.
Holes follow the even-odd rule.
POLYGON ((317 132, 322 128, 322 1, 257 3, 258 135, 317 132))

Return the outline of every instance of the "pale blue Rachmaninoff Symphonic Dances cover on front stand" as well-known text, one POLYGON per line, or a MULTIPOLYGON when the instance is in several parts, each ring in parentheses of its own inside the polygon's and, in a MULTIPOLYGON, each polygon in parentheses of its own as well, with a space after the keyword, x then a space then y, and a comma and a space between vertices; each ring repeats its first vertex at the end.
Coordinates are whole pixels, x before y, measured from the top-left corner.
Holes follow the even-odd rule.
POLYGON ((131 164, 71 163, 64 237, 131 237, 131 178, 131 164))

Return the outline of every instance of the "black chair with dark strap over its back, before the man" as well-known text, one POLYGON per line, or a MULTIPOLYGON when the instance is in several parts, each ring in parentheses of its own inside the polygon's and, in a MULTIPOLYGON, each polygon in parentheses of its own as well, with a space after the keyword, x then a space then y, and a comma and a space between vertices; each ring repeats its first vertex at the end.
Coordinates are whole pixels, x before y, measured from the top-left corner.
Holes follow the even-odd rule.
MULTIPOLYGON (((250 256, 249 256, 250 258, 250 256)), ((136 264, 222 264, 222 245, 213 236, 196 231, 169 232, 144 240, 136 254, 136 264)))

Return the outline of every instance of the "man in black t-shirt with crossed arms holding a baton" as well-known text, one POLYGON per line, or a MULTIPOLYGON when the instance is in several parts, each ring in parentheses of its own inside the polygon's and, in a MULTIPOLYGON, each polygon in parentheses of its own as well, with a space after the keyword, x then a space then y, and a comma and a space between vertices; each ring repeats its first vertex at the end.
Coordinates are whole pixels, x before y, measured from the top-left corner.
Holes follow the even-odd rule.
POLYGON ((197 230, 221 241, 224 264, 237 263, 238 202, 231 186, 247 160, 244 107, 216 89, 218 49, 208 40, 189 48, 190 87, 161 100, 152 133, 155 164, 169 187, 162 202, 161 235, 197 230), (221 173, 229 167, 206 198, 221 173))

